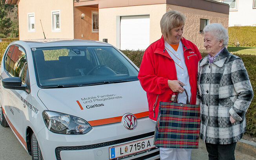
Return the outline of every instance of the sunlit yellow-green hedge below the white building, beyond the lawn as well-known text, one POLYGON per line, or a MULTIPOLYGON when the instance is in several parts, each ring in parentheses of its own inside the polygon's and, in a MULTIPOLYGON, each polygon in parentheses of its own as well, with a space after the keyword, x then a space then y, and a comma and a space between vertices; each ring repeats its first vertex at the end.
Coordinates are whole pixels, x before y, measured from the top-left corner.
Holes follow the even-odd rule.
POLYGON ((235 26, 229 27, 229 46, 236 46, 239 41, 240 46, 256 47, 256 27, 235 26))

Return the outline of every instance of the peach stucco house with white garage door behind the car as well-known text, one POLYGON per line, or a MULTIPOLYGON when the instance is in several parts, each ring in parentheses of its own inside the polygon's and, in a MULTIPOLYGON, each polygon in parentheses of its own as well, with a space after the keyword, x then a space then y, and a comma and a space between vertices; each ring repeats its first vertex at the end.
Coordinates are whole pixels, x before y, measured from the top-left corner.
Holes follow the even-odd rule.
POLYGON ((160 20, 177 10, 187 17, 183 37, 203 47, 203 27, 228 28, 229 5, 214 0, 6 0, 17 4, 20 39, 68 38, 144 50, 161 37, 160 20), (42 25, 41 25, 42 23, 42 25), (44 34, 43 34, 44 30, 44 34))

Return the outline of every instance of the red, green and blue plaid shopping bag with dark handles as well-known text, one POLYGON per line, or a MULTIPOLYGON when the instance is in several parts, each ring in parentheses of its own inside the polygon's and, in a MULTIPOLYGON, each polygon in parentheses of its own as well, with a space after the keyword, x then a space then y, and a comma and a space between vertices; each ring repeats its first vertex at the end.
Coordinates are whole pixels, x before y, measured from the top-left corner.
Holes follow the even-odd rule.
POLYGON ((200 105, 160 102, 155 127, 155 146, 198 148, 199 127, 200 105))

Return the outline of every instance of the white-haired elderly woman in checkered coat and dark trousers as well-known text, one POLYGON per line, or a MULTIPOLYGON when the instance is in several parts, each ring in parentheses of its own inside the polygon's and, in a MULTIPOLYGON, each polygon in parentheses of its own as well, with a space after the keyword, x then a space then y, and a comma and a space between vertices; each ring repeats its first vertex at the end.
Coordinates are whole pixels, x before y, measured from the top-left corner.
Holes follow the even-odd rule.
POLYGON ((246 130, 245 113, 253 91, 240 57, 227 50, 227 29, 212 23, 203 29, 208 55, 199 60, 200 137, 210 160, 234 160, 236 142, 246 130))

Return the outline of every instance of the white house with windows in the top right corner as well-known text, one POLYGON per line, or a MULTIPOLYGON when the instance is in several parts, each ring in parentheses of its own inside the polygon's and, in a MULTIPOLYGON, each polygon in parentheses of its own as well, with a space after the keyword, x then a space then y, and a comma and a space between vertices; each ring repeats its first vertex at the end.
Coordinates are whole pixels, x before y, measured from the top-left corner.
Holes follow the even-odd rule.
POLYGON ((229 4, 229 27, 256 26, 256 0, 216 0, 229 4))

